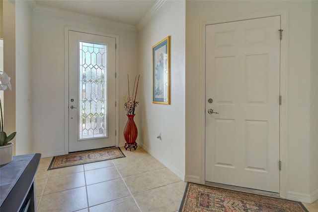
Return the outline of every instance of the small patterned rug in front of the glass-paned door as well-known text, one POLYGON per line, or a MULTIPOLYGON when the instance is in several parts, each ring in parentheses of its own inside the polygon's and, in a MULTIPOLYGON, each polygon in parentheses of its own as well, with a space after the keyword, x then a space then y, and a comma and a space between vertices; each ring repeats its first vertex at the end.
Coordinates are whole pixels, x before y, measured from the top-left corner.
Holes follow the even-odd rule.
POLYGON ((119 147, 71 153, 53 157, 48 170, 126 157, 119 147))

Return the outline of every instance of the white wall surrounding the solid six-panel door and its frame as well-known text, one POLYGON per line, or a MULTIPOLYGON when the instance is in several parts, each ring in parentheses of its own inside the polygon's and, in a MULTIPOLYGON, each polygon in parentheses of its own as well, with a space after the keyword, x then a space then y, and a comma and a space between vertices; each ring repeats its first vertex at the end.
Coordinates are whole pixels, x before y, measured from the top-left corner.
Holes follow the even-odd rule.
MULTIPOLYGON (((186 176, 188 179, 200 180, 200 45, 201 21, 221 17, 235 16, 251 12, 286 8, 287 24, 284 29, 288 39, 287 58, 287 141, 286 141, 286 193, 289 199, 310 202, 311 173, 316 172, 317 165, 310 165, 313 151, 311 142, 311 110, 301 107, 310 104, 311 74, 317 76, 311 67, 311 1, 186 1, 186 176), (308 32, 308 33, 304 33, 308 32), (311 73, 312 70, 312 73, 311 73), (314 169, 311 169, 314 168, 314 169)), ((314 23, 313 23, 314 24, 314 23)), ((317 64, 316 64, 317 65, 317 64)), ((312 109, 314 110, 314 109, 312 109)), ((317 121, 317 119, 316 119, 317 121)), ((314 121, 313 121, 314 122, 314 121)), ((313 129, 312 129, 313 130, 313 129)), ((312 132, 312 139, 317 134, 312 132)), ((314 140, 312 140, 314 143, 314 140)), ((317 148, 316 148, 317 150, 317 148)), ((317 181, 316 181, 317 182, 317 181)), ((317 192, 317 190, 315 191, 317 192)))

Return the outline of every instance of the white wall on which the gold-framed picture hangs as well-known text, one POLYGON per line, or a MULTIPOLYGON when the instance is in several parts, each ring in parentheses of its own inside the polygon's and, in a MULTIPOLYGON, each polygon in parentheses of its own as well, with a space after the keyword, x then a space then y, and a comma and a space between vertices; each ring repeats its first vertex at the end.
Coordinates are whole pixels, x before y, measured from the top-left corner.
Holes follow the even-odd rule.
POLYGON ((145 150, 184 179, 185 1, 167 1, 139 33, 142 113, 139 139, 145 150), (171 105, 152 103, 152 47, 171 36, 171 105), (157 139, 161 132, 162 140, 157 139))

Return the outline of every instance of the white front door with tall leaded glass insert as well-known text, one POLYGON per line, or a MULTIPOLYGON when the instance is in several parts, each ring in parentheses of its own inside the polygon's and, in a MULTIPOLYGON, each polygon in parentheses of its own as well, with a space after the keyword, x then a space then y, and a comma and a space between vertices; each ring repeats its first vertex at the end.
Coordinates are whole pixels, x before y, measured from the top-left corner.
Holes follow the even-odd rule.
POLYGON ((69 152, 115 146, 115 42, 69 31, 69 152))

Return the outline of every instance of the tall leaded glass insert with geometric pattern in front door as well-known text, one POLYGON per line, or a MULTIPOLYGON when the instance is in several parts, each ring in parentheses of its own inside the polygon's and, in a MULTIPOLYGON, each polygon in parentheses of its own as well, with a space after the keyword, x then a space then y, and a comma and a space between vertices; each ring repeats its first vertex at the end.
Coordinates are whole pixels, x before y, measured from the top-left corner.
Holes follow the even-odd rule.
POLYGON ((107 137, 107 45, 79 42, 79 139, 107 137))

